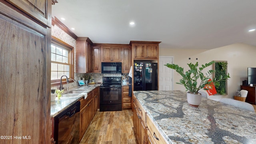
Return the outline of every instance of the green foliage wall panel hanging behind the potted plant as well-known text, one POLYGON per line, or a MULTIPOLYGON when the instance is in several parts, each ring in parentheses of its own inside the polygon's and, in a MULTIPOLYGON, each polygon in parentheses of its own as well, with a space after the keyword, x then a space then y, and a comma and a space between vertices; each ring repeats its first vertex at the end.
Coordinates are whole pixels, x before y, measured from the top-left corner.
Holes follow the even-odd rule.
MULTIPOLYGON (((215 63, 215 77, 218 78, 221 75, 226 74, 228 68, 227 62, 216 62, 215 63)), ((226 81, 215 82, 215 88, 218 94, 226 94, 226 81)))

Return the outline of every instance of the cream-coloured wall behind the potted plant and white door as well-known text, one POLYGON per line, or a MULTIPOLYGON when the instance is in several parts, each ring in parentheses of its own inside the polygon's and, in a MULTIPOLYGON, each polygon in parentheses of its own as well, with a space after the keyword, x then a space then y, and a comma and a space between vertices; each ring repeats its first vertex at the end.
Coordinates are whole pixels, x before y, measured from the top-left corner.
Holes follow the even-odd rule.
MULTIPOLYGON (((212 50, 202 49, 172 49, 160 48, 159 56, 173 56, 173 63, 184 67, 184 71, 188 70, 188 63, 196 63, 199 65, 208 63, 212 60, 228 61, 228 97, 232 98, 243 80, 247 80, 247 67, 256 67, 256 47, 247 44, 232 44, 212 50), (189 60, 188 58, 191 58, 189 60), (196 60, 198 58, 198 60, 196 60)), ((210 66, 211 69, 212 66, 210 66)), ((181 77, 176 71, 173 72, 174 90, 186 90, 184 86, 176 84, 181 77)))

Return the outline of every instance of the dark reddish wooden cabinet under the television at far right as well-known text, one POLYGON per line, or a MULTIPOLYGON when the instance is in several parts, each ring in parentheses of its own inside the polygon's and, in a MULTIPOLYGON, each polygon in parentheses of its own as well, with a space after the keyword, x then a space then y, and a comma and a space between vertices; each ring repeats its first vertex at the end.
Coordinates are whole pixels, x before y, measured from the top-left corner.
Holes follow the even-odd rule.
POLYGON ((256 104, 256 87, 255 86, 240 86, 240 89, 248 91, 245 102, 248 102, 250 104, 256 104))

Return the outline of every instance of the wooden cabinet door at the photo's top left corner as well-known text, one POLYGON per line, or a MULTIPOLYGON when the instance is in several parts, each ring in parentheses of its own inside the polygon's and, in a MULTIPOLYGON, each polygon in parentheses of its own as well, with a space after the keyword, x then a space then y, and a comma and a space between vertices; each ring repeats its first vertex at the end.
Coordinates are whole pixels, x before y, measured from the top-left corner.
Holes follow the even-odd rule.
POLYGON ((6 0, 16 8, 25 12, 38 22, 51 27, 51 16, 48 14, 49 8, 51 8, 51 0, 6 0), (48 20, 50 19, 50 20, 48 20))

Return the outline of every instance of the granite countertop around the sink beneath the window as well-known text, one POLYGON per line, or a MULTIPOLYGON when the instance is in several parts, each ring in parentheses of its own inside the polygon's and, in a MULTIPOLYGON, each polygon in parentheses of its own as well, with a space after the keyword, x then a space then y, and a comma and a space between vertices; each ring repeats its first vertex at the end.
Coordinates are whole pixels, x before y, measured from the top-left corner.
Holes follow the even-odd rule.
MULTIPOLYGON (((101 84, 101 83, 100 83, 101 84)), ((75 88, 72 88, 68 91, 64 91, 63 94, 70 92, 72 90, 84 90, 81 94, 78 96, 72 96, 72 97, 60 97, 60 100, 58 100, 58 97, 55 98, 55 101, 51 101, 51 117, 54 117, 58 115, 60 112, 64 111, 66 108, 77 102, 80 98, 83 98, 85 96, 85 93, 89 93, 92 90, 94 90, 96 87, 100 86, 100 84, 88 84, 88 88, 85 86, 77 86, 75 88)), ((86 94, 87 96, 87 94, 86 94)))

